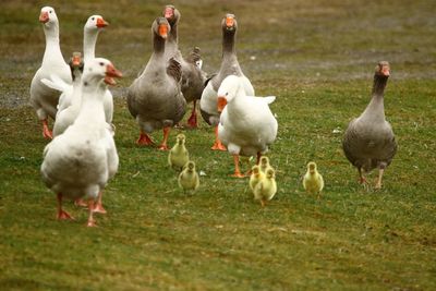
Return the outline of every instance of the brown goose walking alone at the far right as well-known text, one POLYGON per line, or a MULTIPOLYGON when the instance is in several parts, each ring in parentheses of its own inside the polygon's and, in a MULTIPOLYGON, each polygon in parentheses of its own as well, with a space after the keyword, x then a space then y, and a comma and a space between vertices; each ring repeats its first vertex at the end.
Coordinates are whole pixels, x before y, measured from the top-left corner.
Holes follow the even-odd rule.
POLYGON ((342 142, 343 153, 358 168, 361 183, 366 183, 362 170, 368 172, 378 168, 375 189, 382 187, 383 173, 397 153, 397 143, 392 128, 385 119, 383 101, 389 70, 388 62, 377 64, 374 74, 373 98, 365 111, 349 123, 342 142))

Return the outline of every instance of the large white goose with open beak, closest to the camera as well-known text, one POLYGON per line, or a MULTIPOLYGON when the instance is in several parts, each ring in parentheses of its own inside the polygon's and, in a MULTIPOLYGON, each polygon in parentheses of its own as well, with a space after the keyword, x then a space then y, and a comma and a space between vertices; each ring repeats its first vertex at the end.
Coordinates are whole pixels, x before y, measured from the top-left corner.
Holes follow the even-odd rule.
POLYGON ((121 72, 106 59, 90 60, 82 77, 82 105, 74 123, 56 136, 44 149, 41 175, 57 194, 58 219, 73 219, 63 210, 64 197, 88 198, 88 227, 95 226, 94 202, 117 170, 119 158, 109 125, 105 120, 106 85, 121 72))

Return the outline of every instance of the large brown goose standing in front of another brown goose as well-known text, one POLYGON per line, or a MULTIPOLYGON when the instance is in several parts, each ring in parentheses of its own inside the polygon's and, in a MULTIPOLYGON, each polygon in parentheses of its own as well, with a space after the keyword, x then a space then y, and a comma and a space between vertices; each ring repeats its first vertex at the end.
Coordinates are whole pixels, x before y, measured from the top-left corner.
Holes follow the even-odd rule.
POLYGON ((136 119, 141 135, 138 145, 153 144, 148 136, 164 128, 164 141, 159 149, 168 149, 170 128, 179 122, 185 112, 186 101, 180 90, 180 63, 165 59, 166 39, 171 27, 165 17, 157 17, 152 25, 153 53, 142 74, 128 89, 128 106, 136 119))

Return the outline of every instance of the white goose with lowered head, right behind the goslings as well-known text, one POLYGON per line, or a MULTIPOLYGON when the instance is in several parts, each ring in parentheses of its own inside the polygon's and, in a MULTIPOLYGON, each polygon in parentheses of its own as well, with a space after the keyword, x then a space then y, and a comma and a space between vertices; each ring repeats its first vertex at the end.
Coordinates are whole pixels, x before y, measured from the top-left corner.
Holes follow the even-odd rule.
POLYGON ((277 136, 278 123, 269 109, 276 97, 246 96, 241 77, 229 75, 218 89, 218 111, 222 111, 218 124, 218 138, 233 155, 234 174, 243 178, 239 169, 239 156, 261 156, 268 151, 277 136))

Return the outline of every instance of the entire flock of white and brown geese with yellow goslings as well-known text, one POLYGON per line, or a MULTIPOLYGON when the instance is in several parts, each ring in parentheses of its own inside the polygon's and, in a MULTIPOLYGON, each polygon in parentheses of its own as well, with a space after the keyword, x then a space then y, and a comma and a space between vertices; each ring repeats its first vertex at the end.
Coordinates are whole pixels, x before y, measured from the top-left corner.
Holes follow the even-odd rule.
MULTIPOLYGON (((250 187, 262 206, 277 192, 275 169, 268 151, 277 136, 278 122, 269 109, 275 96, 256 97, 253 85, 243 74, 235 52, 238 22, 233 14, 221 21, 222 59, 215 74, 202 70, 199 49, 187 56, 179 50, 180 12, 166 5, 162 15, 152 24, 153 53, 128 88, 129 111, 140 128, 137 144, 154 145, 149 134, 162 130, 158 148, 169 149, 168 163, 179 171, 179 185, 194 192, 199 184, 195 162, 190 160, 185 135, 179 134, 172 148, 168 146, 171 128, 179 125, 193 102, 187 126, 197 126, 197 104, 203 119, 215 131, 211 149, 228 150, 234 159, 237 178, 245 177, 239 168, 239 157, 256 156, 250 173, 250 187)), ((96 226, 93 214, 106 213, 102 190, 119 167, 113 141, 113 99, 108 85, 122 73, 107 59, 95 57, 99 32, 108 26, 100 15, 88 17, 84 26, 83 54, 74 52, 65 63, 59 45, 59 21, 55 9, 44 7, 39 15, 46 36, 41 66, 31 84, 31 104, 43 122, 43 135, 51 142, 44 149, 43 180, 57 194, 58 219, 73 219, 62 208, 64 197, 88 207, 87 226, 96 226), (53 131, 48 118, 55 120, 53 131)), ((372 100, 364 112, 353 119, 344 133, 343 151, 358 168, 360 182, 367 184, 364 172, 379 169, 375 187, 382 187, 384 170, 391 162, 397 144, 384 113, 384 89, 389 77, 389 64, 379 62, 374 74, 372 100)), ((319 193, 323 177, 315 162, 308 162, 303 177, 307 192, 319 193)))

